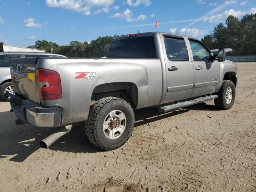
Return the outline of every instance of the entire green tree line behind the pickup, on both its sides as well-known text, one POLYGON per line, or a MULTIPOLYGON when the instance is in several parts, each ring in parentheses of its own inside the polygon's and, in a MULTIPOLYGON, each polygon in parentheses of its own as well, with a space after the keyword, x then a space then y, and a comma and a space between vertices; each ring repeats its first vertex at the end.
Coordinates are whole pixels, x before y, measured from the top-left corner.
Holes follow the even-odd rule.
MULTIPOLYGON (((123 35, 122 35, 123 36, 123 35)), ((59 46, 54 42, 37 40, 28 48, 46 50, 46 52, 67 57, 104 57, 112 40, 118 35, 98 37, 91 42, 71 41, 69 45, 59 46)), ((212 33, 201 39, 210 49, 232 48, 229 55, 256 55, 256 14, 247 14, 240 20, 234 16, 226 19, 226 25, 219 23, 212 33)))

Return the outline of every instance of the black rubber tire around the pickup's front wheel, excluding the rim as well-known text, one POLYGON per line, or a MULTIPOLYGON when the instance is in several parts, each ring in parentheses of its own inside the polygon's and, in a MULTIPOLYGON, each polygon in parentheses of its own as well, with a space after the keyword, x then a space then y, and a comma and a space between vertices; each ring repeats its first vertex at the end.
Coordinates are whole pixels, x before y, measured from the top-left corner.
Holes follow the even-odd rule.
POLYGON ((230 80, 223 80, 222 86, 220 87, 220 90, 217 93, 217 95, 219 96, 219 98, 214 99, 214 104, 222 110, 230 109, 233 106, 235 97, 236 97, 236 87, 235 87, 234 83, 230 80), (229 87, 232 89, 232 100, 229 104, 227 104, 226 103, 226 91, 229 87))

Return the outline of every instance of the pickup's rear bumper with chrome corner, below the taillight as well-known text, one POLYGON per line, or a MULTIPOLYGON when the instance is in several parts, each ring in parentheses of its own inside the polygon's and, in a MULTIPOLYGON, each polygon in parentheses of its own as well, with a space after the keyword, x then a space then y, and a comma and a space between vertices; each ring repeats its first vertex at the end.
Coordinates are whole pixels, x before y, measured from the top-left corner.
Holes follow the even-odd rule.
POLYGON ((10 96, 12 111, 25 123, 38 127, 60 126, 62 109, 58 107, 44 108, 39 104, 19 96, 10 96))

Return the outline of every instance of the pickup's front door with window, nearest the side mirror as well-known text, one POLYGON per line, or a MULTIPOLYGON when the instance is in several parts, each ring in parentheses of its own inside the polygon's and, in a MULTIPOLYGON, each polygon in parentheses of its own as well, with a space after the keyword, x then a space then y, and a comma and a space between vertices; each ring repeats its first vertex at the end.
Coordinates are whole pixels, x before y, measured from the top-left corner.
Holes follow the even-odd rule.
POLYGON ((210 51, 202 42, 189 40, 194 64, 194 90, 192 97, 216 92, 220 82, 220 65, 210 61, 210 51))

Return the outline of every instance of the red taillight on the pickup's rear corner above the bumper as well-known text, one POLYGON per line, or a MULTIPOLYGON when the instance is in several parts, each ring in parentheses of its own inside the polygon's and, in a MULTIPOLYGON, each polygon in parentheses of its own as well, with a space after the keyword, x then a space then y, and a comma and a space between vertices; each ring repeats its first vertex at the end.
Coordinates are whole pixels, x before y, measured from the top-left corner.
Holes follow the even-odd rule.
POLYGON ((37 69, 40 100, 62 98, 60 74, 49 69, 37 69))

